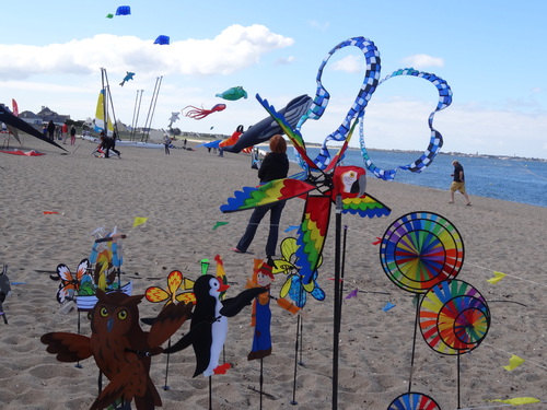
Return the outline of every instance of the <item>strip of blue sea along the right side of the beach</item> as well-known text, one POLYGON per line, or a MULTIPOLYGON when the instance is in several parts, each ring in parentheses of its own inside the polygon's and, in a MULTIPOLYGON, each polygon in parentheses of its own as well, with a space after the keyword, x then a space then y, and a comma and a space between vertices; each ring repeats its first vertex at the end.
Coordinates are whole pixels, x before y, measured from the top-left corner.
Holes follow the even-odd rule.
MULTIPOLYGON (((306 149, 310 157, 317 156, 318 148, 307 147, 306 149)), ((336 149, 331 150, 331 154, 336 154, 336 149)), ((295 161, 292 149, 288 150, 288 155, 291 161, 295 161)), ((393 169, 398 165, 415 162, 421 153, 370 150, 369 155, 376 166, 393 169)), ((464 166, 468 195, 547 207, 547 162, 545 161, 441 153, 421 173, 398 169, 395 181, 447 190, 452 183, 451 174, 454 171, 452 161, 454 160, 459 161, 464 166)), ((347 150, 344 165, 364 167, 361 151, 347 150)), ((456 192, 456 195, 461 194, 456 192)))

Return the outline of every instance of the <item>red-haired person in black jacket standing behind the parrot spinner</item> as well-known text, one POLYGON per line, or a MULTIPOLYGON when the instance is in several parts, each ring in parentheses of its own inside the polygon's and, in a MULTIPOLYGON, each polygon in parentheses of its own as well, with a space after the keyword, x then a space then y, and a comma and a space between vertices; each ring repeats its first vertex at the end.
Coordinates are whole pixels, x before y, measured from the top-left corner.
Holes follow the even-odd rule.
MULTIPOLYGON (((289 173, 289 160, 287 157, 287 142, 280 134, 274 136, 270 139, 270 151, 265 157, 258 169, 258 178, 260 184, 266 184, 275 179, 287 178, 289 173)), ((232 248, 232 251, 244 254, 255 237, 258 224, 270 212, 270 229, 268 242, 266 243, 266 256, 268 260, 276 255, 277 241, 279 236, 279 221, 286 201, 268 203, 255 208, 247 224, 245 233, 241 237, 237 246, 232 248)))

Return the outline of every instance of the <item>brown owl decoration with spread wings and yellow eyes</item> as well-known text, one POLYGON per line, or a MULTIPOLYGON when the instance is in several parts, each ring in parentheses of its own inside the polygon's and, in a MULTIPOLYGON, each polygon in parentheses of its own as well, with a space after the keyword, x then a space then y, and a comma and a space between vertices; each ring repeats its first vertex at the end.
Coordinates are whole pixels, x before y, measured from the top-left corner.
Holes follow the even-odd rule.
POLYGON ((100 393, 91 410, 104 409, 118 399, 135 400, 138 410, 162 406, 149 375, 151 360, 162 353, 161 344, 189 317, 193 305, 165 306, 150 331, 143 331, 137 306, 144 295, 128 296, 97 290, 96 296, 97 303, 91 312, 91 337, 50 332, 42 336, 40 341, 60 362, 93 356, 109 384, 100 393))

